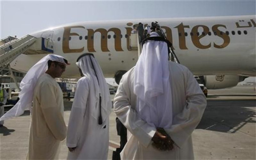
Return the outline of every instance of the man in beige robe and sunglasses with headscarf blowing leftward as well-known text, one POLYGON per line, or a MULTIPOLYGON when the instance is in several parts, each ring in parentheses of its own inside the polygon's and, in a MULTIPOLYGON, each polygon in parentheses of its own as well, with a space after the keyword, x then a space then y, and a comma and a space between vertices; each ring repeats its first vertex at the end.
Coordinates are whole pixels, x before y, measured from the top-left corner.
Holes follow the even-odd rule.
POLYGON ((20 84, 19 101, 1 120, 31 111, 29 151, 26 159, 58 159, 60 142, 66 137, 63 93, 54 78, 61 77, 68 62, 48 54, 27 72, 20 84), (32 107, 33 101, 33 107, 32 107))

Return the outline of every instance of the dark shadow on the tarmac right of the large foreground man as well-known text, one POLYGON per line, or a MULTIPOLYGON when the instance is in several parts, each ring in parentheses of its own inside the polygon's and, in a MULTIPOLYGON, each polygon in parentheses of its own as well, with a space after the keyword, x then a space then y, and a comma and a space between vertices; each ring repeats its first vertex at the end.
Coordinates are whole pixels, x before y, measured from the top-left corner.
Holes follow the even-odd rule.
POLYGON ((235 133, 247 123, 256 123, 253 120, 255 107, 255 99, 207 100, 207 107, 197 129, 235 133))

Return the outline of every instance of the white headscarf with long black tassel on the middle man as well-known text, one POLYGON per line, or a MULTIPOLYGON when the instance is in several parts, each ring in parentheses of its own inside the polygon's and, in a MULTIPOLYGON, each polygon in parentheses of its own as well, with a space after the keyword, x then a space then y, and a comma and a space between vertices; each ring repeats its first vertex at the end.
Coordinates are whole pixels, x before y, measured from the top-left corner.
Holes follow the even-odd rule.
POLYGON ((96 105, 96 102, 99 101, 99 95, 101 95, 101 112, 104 124, 104 121, 111 113, 111 100, 109 86, 103 76, 101 67, 91 53, 86 53, 86 56, 81 57, 76 64, 81 68, 83 75, 88 77, 90 82, 93 82, 93 85, 89 85, 89 101, 93 103, 92 106, 96 106, 96 108, 91 110, 91 115, 97 120, 99 117, 99 115, 97 115, 97 110, 99 110, 100 104, 96 105))

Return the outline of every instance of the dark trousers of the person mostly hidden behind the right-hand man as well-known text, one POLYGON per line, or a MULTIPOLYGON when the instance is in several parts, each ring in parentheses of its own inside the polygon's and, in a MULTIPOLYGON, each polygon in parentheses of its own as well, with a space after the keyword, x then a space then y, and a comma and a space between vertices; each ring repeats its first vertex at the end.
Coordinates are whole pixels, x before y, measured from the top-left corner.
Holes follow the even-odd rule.
POLYGON ((115 121, 117 123, 117 135, 120 136, 120 148, 113 151, 112 160, 120 160, 120 152, 125 147, 127 142, 127 129, 118 118, 116 118, 115 121))

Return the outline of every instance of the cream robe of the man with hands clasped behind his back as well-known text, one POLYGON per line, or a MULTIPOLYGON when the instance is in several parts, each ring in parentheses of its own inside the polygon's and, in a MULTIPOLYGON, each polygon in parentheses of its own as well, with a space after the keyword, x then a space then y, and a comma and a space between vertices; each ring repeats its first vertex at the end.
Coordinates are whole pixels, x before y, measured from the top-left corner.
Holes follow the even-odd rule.
POLYGON ((171 151, 159 151, 151 141, 156 128, 141 119, 136 111, 134 69, 123 75, 114 98, 114 112, 131 133, 121 159, 194 159, 191 134, 206 108, 206 97, 193 74, 185 66, 169 63, 173 125, 164 129, 175 145, 171 151))

